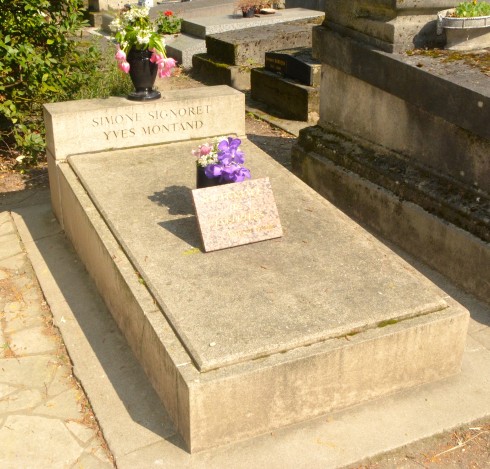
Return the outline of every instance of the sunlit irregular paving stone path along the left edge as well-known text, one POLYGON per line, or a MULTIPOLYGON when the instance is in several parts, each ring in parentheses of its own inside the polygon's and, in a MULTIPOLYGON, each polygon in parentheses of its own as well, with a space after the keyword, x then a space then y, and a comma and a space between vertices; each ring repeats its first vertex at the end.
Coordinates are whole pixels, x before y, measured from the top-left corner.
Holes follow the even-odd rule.
POLYGON ((9 212, 0 213, 0 467, 114 467, 9 212))

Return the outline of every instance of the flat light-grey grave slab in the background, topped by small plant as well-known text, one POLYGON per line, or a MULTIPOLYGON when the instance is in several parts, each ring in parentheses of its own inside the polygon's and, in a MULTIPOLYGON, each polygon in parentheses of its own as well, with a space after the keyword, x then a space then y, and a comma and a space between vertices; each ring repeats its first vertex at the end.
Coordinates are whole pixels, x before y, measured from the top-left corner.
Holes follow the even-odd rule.
POLYGON ((290 21, 311 20, 323 18, 323 16, 324 13, 322 12, 308 10, 306 8, 277 10, 272 15, 256 15, 253 18, 243 18, 241 14, 214 15, 206 18, 184 20, 182 23, 182 32, 204 39, 210 34, 219 34, 227 31, 262 27, 290 21))

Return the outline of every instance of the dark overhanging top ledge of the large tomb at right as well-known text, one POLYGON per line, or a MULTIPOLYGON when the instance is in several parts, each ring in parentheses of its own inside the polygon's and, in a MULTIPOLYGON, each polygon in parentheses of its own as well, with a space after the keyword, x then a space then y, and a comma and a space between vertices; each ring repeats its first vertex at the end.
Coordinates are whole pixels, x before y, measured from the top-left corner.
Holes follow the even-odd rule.
POLYGON ((473 71, 479 80, 463 86, 457 77, 437 76, 408 56, 376 50, 323 26, 313 29, 313 48, 322 63, 490 140, 490 77, 473 71))

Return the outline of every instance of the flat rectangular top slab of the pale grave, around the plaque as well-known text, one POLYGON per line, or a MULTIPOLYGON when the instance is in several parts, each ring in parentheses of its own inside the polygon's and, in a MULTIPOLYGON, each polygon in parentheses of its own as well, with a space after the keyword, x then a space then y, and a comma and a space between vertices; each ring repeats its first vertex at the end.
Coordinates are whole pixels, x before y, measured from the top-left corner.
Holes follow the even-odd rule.
POLYGON ((137 159, 130 150, 78 155, 70 164, 200 371, 447 308, 434 286, 367 234, 356 237, 342 216, 322 219, 324 210, 288 185, 293 176, 275 176, 248 142, 247 166, 270 177, 285 235, 183 255, 201 245, 191 147, 140 149, 137 159))

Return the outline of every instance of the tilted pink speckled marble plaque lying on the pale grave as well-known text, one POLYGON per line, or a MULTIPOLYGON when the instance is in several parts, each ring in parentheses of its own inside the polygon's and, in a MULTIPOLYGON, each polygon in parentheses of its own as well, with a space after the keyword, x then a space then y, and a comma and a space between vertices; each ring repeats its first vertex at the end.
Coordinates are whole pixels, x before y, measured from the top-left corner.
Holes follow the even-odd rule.
POLYGON ((192 191, 206 252, 282 236, 269 178, 192 191))

